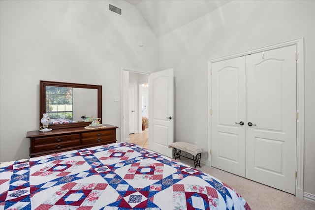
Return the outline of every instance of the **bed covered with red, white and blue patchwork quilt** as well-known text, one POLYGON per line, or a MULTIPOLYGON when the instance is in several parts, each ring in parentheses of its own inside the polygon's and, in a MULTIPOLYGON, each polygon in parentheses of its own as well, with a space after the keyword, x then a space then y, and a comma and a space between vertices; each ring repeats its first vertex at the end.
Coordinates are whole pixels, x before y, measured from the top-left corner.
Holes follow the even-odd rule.
POLYGON ((0 210, 250 210, 232 187, 131 143, 0 164, 0 210))

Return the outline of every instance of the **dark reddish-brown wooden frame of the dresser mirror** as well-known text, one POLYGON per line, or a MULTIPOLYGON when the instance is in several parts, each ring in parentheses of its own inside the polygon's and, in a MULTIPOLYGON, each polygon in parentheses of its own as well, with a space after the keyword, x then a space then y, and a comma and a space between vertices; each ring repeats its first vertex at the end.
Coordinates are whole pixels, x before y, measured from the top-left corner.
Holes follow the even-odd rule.
MULTIPOLYGON (((39 81, 39 126, 41 126, 40 120, 43 117, 42 116, 43 113, 46 113, 46 86, 96 89, 97 90, 97 118, 102 118, 102 86, 40 80, 39 81)), ((61 129, 61 128, 71 128, 71 127, 84 127, 84 126, 88 126, 90 123, 91 122, 75 122, 75 123, 69 123, 69 124, 54 124, 54 125, 49 125, 48 128, 61 129)))

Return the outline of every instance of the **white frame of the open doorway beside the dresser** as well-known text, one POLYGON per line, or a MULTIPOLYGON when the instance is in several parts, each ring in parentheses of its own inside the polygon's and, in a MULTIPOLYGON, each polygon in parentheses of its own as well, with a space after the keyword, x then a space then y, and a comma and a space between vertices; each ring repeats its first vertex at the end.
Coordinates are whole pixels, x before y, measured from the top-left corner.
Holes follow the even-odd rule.
MULTIPOLYGON (((151 74, 151 71, 133 69, 122 67, 121 68, 121 142, 129 142, 129 122, 128 122, 128 88, 129 88, 129 72, 140 74, 151 74)), ((141 130, 139 128, 139 130, 141 130)))

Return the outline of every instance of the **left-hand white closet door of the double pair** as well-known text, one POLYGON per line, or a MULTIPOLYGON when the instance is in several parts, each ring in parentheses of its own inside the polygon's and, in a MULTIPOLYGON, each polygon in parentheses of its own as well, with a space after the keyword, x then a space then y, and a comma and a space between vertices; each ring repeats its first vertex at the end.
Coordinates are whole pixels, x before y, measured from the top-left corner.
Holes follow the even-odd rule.
POLYGON ((211 65, 211 163, 242 177, 245 177, 247 126, 245 64, 245 57, 238 57, 211 65))

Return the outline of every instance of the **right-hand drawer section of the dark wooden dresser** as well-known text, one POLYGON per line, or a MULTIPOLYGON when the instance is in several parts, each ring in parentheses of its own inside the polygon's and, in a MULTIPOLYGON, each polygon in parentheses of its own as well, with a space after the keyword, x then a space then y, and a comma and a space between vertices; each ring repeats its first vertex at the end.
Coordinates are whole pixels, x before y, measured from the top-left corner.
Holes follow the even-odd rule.
POLYGON ((116 142, 116 130, 82 133, 82 145, 109 144, 116 142))

